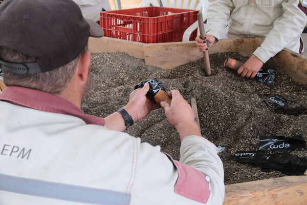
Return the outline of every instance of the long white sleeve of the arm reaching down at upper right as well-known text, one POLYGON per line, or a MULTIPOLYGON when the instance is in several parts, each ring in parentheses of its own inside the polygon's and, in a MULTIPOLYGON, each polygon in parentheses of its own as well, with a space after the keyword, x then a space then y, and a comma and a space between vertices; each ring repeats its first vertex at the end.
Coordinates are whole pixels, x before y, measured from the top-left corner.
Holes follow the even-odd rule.
POLYGON ((262 62, 266 63, 302 33, 307 17, 298 8, 298 3, 299 0, 288 0, 282 3, 283 15, 275 20, 273 29, 253 53, 262 62))

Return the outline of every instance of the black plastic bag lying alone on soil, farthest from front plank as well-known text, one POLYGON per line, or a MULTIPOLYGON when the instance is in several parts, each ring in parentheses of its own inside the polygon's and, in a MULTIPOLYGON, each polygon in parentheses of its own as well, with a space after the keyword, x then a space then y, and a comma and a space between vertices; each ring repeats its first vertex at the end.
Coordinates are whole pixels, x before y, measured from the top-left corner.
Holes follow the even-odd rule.
POLYGON ((298 105, 296 107, 289 106, 289 102, 286 98, 275 95, 275 94, 265 94, 263 98, 266 104, 273 109, 274 112, 289 114, 299 116, 302 114, 307 114, 307 108, 298 105))

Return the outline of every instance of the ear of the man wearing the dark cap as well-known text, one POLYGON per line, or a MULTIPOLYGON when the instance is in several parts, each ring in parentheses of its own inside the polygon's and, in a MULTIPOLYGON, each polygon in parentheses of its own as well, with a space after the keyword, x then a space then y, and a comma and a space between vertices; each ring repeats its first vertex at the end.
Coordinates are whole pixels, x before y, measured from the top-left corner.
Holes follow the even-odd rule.
POLYGON ((81 81, 86 81, 91 65, 91 54, 89 51, 82 53, 78 60, 77 74, 81 81))

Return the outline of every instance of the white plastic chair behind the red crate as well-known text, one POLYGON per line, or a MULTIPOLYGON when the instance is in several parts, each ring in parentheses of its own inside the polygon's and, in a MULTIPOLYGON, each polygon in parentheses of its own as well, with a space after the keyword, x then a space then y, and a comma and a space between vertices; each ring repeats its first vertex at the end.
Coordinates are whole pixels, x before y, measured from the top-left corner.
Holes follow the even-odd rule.
MULTIPOLYGON (((175 0, 161 0, 161 3, 161 6, 163 7, 201 10, 204 20, 207 19, 207 8, 209 5, 208 0, 177 0, 176 4, 175 0)), ((150 6, 150 4, 152 6, 160 7, 159 0, 143 0, 139 7, 147 7, 150 6)), ((192 32, 195 31, 195 29, 198 29, 197 21, 185 30, 182 41, 188 42, 192 32)))

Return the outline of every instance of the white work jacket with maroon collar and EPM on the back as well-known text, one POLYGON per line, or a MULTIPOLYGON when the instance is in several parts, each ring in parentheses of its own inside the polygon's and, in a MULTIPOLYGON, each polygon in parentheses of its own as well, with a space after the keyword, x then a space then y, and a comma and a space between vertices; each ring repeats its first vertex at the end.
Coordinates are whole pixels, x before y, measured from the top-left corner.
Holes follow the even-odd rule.
POLYGON ((20 87, 0 94, 0 116, 1 205, 223 203, 222 161, 203 137, 182 141, 179 162, 67 100, 20 87))

